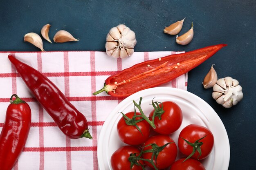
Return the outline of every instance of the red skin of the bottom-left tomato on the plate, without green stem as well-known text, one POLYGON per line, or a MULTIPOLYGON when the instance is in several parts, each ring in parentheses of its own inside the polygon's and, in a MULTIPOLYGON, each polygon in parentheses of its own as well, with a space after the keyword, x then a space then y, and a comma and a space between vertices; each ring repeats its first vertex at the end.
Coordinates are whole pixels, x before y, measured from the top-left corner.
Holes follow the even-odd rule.
MULTIPOLYGON (((130 169, 130 161, 128 158, 130 154, 139 155, 140 150, 134 146, 122 146, 118 150, 116 150, 110 159, 111 167, 113 170, 143 170, 141 166, 134 165, 132 169, 130 169)), ((143 161, 139 161, 142 165, 143 161)))

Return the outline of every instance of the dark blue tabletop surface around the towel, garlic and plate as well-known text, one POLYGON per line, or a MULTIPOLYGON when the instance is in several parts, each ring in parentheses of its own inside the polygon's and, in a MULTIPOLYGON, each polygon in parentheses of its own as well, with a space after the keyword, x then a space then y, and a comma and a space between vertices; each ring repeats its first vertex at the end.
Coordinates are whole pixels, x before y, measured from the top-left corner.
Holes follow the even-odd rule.
POLYGON ((105 51, 106 34, 118 24, 135 31, 135 51, 191 51, 204 46, 228 44, 209 60, 189 72, 188 91, 209 103, 227 129, 230 141, 229 170, 255 170, 255 0, 13 0, 0 1, 0 51, 38 51, 23 42, 28 32, 40 34, 52 25, 49 37, 65 29, 79 42, 50 44, 45 51, 105 51), (164 26, 186 17, 182 31, 194 24, 194 39, 187 46, 175 44, 175 36, 163 33, 164 26), (218 105, 212 90, 202 87, 211 64, 218 77, 238 79, 244 99, 233 108, 218 105))

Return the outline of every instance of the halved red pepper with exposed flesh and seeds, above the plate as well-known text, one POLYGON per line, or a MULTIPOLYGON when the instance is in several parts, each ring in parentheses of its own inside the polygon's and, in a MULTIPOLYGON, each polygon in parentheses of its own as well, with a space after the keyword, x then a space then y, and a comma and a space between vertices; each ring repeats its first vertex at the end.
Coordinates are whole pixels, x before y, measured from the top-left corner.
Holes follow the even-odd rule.
POLYGON ((114 97, 127 97, 137 91, 164 84, 200 65, 224 46, 227 44, 207 46, 135 64, 108 77, 104 87, 93 95, 106 91, 114 97))

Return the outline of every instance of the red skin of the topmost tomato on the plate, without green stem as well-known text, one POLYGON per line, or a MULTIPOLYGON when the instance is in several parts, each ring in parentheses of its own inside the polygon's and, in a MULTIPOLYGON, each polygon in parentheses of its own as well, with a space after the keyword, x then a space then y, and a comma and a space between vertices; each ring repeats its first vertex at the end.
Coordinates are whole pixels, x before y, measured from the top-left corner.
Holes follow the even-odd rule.
MULTIPOLYGON (((161 115, 161 120, 155 117, 154 123, 156 128, 153 130, 162 135, 169 135, 180 128, 183 119, 182 110, 180 106, 170 101, 162 102, 159 106, 164 106, 164 113, 161 115)), ((150 120, 152 120, 153 113, 154 110, 149 114, 150 120)))

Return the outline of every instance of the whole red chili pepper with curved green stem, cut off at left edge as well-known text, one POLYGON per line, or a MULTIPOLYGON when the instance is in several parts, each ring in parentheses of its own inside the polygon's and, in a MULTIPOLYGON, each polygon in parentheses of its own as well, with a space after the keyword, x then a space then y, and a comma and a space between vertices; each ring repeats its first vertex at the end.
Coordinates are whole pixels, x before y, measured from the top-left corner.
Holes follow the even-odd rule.
POLYGON ((17 95, 12 95, 0 135, 0 170, 11 170, 18 160, 29 135, 31 110, 17 95), (16 97, 12 101, 12 98, 16 97))

